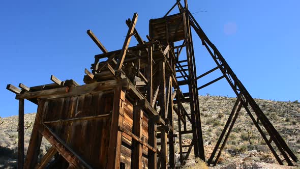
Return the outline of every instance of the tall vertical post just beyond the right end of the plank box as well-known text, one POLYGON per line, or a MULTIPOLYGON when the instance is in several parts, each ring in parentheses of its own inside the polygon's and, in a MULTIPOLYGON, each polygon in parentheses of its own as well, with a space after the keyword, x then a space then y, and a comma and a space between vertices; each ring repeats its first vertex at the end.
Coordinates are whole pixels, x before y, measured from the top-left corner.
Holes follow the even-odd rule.
MULTIPOLYGON (((161 61, 159 63, 159 106, 160 106, 160 116, 163 119, 167 118, 166 113, 166 69, 165 69, 165 62, 161 61)), ((161 168, 167 168, 167 131, 166 128, 161 129, 161 168)))

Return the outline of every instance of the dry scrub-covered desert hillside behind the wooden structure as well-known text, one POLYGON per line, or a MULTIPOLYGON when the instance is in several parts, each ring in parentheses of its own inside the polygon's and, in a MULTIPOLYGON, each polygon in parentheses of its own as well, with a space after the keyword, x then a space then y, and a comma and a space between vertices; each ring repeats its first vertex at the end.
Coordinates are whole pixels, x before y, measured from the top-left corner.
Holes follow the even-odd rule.
MULTIPOLYGON (((220 133, 227 121, 236 98, 221 96, 200 96, 201 123, 205 156, 209 158, 220 133)), ((291 150, 300 158, 300 103, 298 101, 271 101, 256 99, 265 115, 279 131, 291 150)), ((189 106, 185 105, 187 109, 189 106)), ((25 153, 29 143, 35 114, 25 114, 25 153)), ((0 118, 0 168, 14 168, 16 166, 16 150, 18 142, 18 117, 0 118)), ((175 130, 178 126, 175 124, 175 130)), ((191 126, 188 126, 190 128, 191 126)), ((183 144, 191 142, 192 135, 186 134, 183 144)), ((175 152, 179 158, 178 139, 175 152)), ((49 149, 49 143, 43 139, 41 156, 49 149)), ((192 151, 193 152, 193 151, 192 151)), ((187 160, 190 168, 199 168, 201 162, 193 158, 193 153, 187 160)), ((220 164, 214 168, 295 168, 279 166, 271 151, 264 143, 259 132, 251 122, 246 111, 242 108, 232 129, 220 164)))

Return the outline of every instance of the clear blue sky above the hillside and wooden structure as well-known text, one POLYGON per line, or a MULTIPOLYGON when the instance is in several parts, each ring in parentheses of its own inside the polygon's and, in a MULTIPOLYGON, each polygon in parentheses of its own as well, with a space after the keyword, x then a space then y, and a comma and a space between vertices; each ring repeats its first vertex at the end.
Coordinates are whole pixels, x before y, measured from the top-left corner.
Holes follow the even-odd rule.
MULTIPOLYGON (((122 48, 127 18, 138 12, 137 30, 146 39, 148 20, 162 17, 173 1, 1 1, 0 116, 18 114, 6 85, 51 83, 50 75, 83 84, 84 68, 101 53, 86 35, 91 29, 108 50, 122 48), (160 4, 160 5, 157 5, 160 4), (151 8, 152 7, 152 8, 151 8)), ((189 1, 190 11, 255 98, 300 99, 300 2, 189 1)), ((197 72, 215 65, 194 34, 197 72)), ((131 45, 136 44, 132 41, 131 45)), ((218 72, 198 84, 219 77, 218 72)), ((226 81, 200 94, 234 96, 226 81)), ((36 106, 25 102, 25 112, 36 106)))

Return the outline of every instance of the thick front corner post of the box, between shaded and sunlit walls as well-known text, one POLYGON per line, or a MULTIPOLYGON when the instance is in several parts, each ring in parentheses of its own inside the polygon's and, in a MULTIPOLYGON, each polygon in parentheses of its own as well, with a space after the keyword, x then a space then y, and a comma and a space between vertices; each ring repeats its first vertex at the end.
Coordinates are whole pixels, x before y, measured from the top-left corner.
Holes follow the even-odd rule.
POLYGON ((122 86, 115 87, 109 134, 108 159, 106 163, 106 168, 109 169, 119 169, 120 166, 122 131, 119 131, 118 127, 123 126, 124 102, 125 92, 122 91, 122 86))

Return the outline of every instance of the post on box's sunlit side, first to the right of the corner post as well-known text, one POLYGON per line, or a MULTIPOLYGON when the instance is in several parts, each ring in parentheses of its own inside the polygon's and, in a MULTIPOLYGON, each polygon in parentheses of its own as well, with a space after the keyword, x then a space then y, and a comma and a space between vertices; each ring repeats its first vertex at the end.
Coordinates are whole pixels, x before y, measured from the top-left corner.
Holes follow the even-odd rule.
MULTIPOLYGON (((143 111, 140 106, 133 107, 133 134, 142 137, 143 111)), ((132 139, 131 168, 142 168, 142 144, 132 139)))

